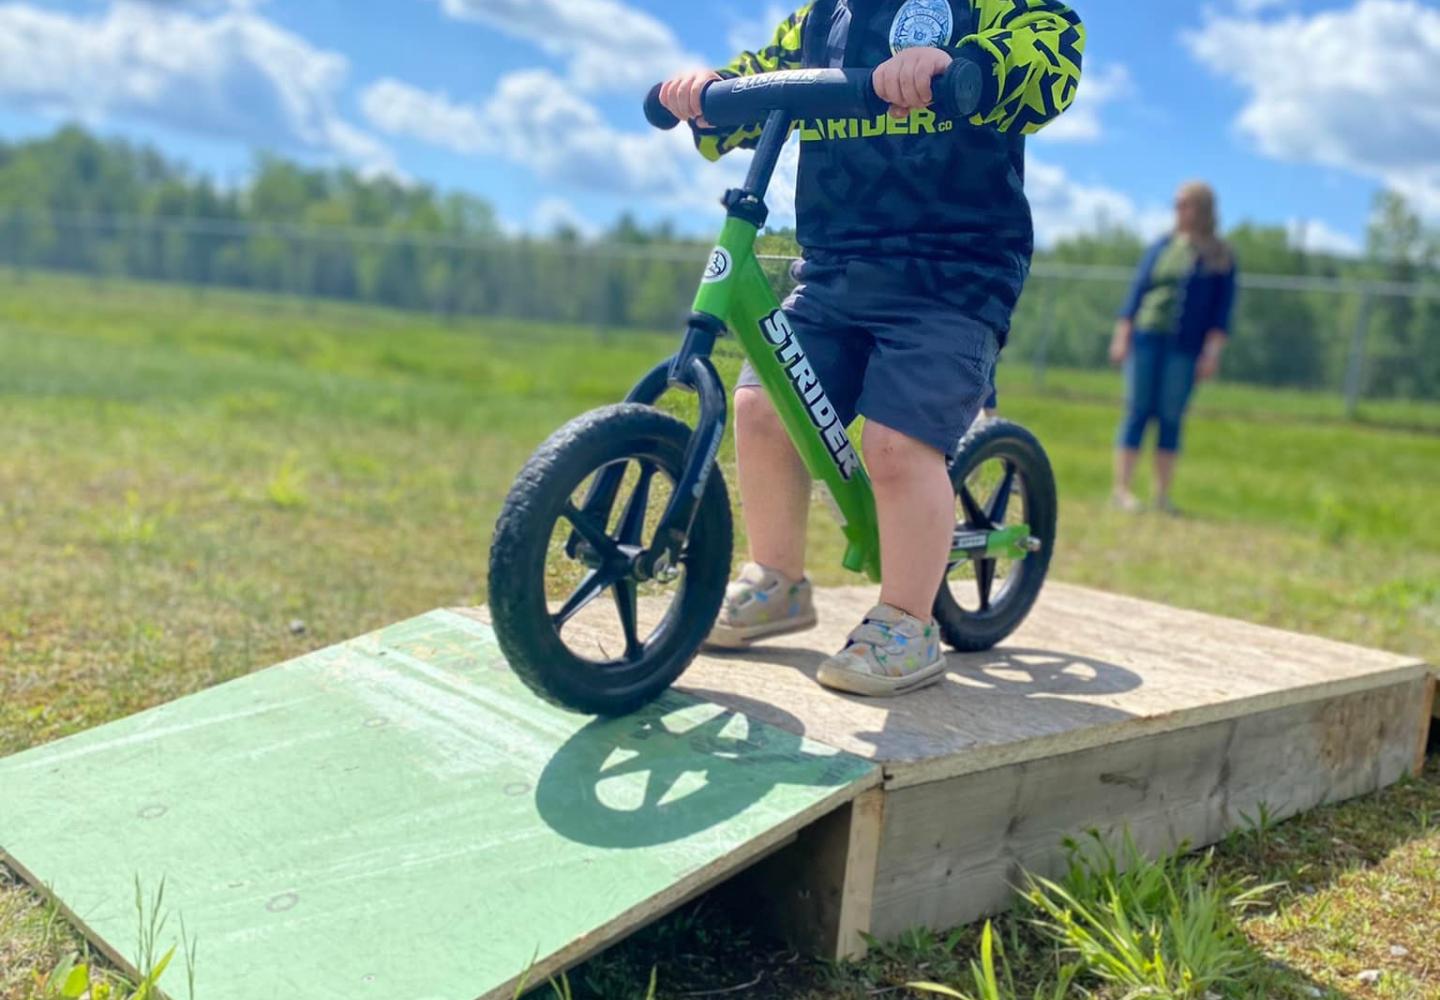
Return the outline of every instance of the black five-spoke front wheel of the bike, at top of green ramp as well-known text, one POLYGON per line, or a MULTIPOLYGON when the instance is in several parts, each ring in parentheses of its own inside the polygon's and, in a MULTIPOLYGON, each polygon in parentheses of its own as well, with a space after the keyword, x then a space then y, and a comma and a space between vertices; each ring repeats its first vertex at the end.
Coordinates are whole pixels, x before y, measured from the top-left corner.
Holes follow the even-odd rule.
POLYGON ((557 431, 521 471, 495 526, 490 607, 526 684, 576 712, 625 715, 690 664, 730 575, 730 504, 706 484, 674 566, 639 556, 680 480, 690 428, 622 403, 557 431))

